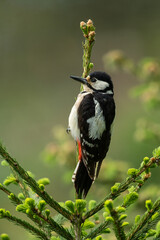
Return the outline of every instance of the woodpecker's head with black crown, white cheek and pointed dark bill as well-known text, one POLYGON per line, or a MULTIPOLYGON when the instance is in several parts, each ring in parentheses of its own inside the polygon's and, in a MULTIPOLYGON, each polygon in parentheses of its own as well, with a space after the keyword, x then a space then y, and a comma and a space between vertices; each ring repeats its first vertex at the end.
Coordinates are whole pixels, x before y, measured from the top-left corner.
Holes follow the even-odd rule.
POLYGON ((93 72, 86 78, 70 76, 83 84, 84 90, 102 92, 113 95, 113 83, 111 77, 105 72, 93 72))

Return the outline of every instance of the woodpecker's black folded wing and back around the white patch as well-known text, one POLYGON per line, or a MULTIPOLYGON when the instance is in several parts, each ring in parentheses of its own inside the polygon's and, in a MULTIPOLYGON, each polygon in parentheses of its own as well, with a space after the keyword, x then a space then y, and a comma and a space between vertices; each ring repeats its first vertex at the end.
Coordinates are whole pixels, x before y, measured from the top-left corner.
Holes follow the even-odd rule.
POLYGON ((110 128, 115 115, 115 104, 112 96, 102 93, 87 94, 78 108, 78 125, 80 129, 80 142, 82 147, 82 160, 92 180, 98 176, 102 160, 105 158, 110 144, 110 128), (95 116, 95 102, 97 100, 103 110, 106 124, 101 139, 89 137, 89 123, 87 120, 95 116), (96 170, 96 165, 97 170, 96 170))

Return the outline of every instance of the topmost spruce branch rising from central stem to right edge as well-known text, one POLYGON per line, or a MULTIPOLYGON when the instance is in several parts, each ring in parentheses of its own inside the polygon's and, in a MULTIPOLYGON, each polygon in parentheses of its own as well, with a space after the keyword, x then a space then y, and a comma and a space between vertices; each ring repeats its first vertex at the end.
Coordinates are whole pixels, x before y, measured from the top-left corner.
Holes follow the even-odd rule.
POLYGON ((112 200, 116 199, 122 192, 127 190, 130 184, 135 182, 143 172, 145 172, 147 169, 149 169, 153 165, 158 164, 159 161, 160 161, 159 156, 151 157, 149 161, 147 163, 142 164, 142 166, 140 166, 140 168, 132 176, 126 178, 126 180, 120 184, 117 191, 109 193, 99 204, 95 206, 95 208, 88 211, 83 217, 83 219, 85 220, 93 216, 98 211, 100 211, 104 207, 104 203, 107 199, 112 199, 112 200))

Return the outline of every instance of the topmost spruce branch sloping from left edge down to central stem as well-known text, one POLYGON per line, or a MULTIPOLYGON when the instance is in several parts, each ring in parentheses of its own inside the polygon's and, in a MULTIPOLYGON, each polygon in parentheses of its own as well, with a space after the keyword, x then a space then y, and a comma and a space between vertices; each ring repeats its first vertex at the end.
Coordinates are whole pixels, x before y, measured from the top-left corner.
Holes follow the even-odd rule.
POLYGON ((0 145, 0 155, 4 158, 8 164, 21 176, 23 180, 36 192, 42 199, 46 201, 52 208, 62 214, 67 219, 71 219, 71 213, 65 208, 61 207, 50 195, 45 191, 41 190, 38 183, 19 165, 19 163, 13 159, 5 148, 0 145))

